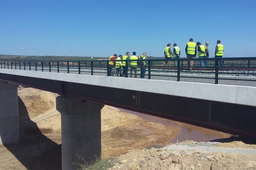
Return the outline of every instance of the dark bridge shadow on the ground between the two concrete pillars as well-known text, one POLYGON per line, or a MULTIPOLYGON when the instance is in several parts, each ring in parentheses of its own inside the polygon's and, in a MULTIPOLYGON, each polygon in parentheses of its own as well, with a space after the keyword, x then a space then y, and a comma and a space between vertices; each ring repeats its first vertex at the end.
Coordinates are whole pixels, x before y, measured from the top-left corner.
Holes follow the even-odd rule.
MULTIPOLYGON (((51 129, 40 131, 37 124, 30 120, 23 101, 18 97, 20 141, 4 145, 27 169, 61 169, 61 145, 44 134, 51 129), (44 134, 43 134, 44 133, 44 134)), ((17 167, 16 167, 17 168, 17 167)))

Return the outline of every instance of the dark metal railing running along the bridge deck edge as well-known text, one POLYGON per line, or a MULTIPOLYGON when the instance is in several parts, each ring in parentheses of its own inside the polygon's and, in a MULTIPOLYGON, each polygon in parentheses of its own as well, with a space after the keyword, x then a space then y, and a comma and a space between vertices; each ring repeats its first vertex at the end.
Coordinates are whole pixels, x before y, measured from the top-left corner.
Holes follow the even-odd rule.
MULTIPOLYGON (((119 69, 115 65, 110 65, 110 60, 88 60, 88 61, 23 61, 23 62, 1 62, 2 69, 18 69, 31 71, 47 71, 61 73, 78 73, 89 75, 140 77, 146 79, 174 80, 220 83, 226 81, 256 81, 256 57, 236 57, 236 58, 172 58, 172 59, 151 59, 144 61, 145 66, 133 66, 130 62, 137 60, 119 60, 125 62, 126 66, 119 69), (193 66, 188 66, 187 62, 193 61, 193 66), (200 61, 208 61, 205 67, 201 67, 200 61), (224 66, 219 65, 222 61, 224 66), (176 66, 175 66, 176 62, 176 66), (143 67, 143 68, 142 68, 143 67), (145 70, 145 74, 141 71, 145 70), (241 71, 245 70, 245 71, 241 71), (133 73, 134 72, 134 73, 133 73), (225 76, 222 76, 225 75, 225 76), (230 76, 228 76, 230 75, 230 76), (239 79, 238 79, 239 76, 239 79), (241 79, 241 77, 250 77, 241 79), (254 79, 255 78, 255 79, 254 79), (201 79, 202 81, 199 81, 201 79), (210 80, 210 81, 208 81, 210 80)), ((117 61, 115 61, 117 62, 117 61)), ((137 63, 138 64, 138 63, 137 63)), ((228 84, 228 83, 227 83, 228 84)), ((255 84, 256 85, 256 84, 255 84)))

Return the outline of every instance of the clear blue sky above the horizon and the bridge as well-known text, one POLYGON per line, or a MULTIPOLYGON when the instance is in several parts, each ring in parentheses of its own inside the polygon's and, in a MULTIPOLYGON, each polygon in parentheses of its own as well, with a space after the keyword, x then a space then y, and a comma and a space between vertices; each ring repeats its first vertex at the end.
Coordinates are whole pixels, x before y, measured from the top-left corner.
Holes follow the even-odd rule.
POLYGON ((1 1, 0 54, 163 56, 189 38, 224 45, 224 57, 256 56, 256 1, 1 1), (173 47, 173 46, 172 46, 173 47))

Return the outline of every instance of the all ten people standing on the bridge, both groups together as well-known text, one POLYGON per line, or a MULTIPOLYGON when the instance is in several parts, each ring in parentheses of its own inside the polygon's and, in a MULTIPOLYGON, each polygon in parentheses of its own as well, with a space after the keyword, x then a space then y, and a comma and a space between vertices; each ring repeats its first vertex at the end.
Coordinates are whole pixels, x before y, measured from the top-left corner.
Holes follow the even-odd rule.
MULTIPOLYGON (((209 58, 209 42, 206 41, 205 45, 202 45, 200 42, 194 43, 193 39, 190 38, 189 42, 186 45, 185 52, 187 54, 187 58, 191 59, 196 57, 197 52, 199 58, 209 58)), ((220 40, 217 40, 217 45, 215 48, 215 58, 221 58, 223 56, 224 47, 221 44, 220 40)), ((173 52, 171 50, 171 44, 168 43, 167 47, 165 48, 165 58, 171 59, 173 58, 180 58, 181 51, 180 48, 177 46, 176 43, 173 44, 173 52)), ((122 56, 114 54, 109 57, 108 62, 108 76, 112 76, 112 69, 115 66, 116 68, 116 76, 117 77, 128 77, 128 69, 130 68, 130 77, 134 75, 134 78, 137 78, 137 67, 140 66, 140 78, 145 77, 146 72, 146 65, 148 64, 147 61, 140 61, 140 60, 147 60, 146 53, 144 52, 141 56, 136 56, 136 52, 132 52, 132 56, 130 53, 127 52, 126 55, 122 56), (123 61, 120 61, 123 60, 123 61), (129 63, 128 63, 129 62, 129 63), (129 65, 128 65, 129 64, 129 65), (134 72, 134 74, 132 74, 134 72)), ((171 60, 165 62, 165 66, 170 66, 171 60)), ((201 67, 206 67, 208 60, 200 60, 201 67)), ((219 60, 221 66, 223 66, 223 61, 219 60)), ((177 61, 174 61, 174 65, 177 66, 177 61)), ((193 61, 188 61, 188 69, 192 70, 193 61)))

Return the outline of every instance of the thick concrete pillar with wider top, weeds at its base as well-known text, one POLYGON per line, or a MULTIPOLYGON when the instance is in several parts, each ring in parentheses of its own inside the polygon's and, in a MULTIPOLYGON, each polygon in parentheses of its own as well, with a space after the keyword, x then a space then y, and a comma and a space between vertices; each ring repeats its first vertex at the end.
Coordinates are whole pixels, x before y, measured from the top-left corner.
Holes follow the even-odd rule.
POLYGON ((76 154, 85 162, 101 156, 101 109, 104 105, 58 96, 56 109, 61 113, 62 169, 77 169, 76 154))

